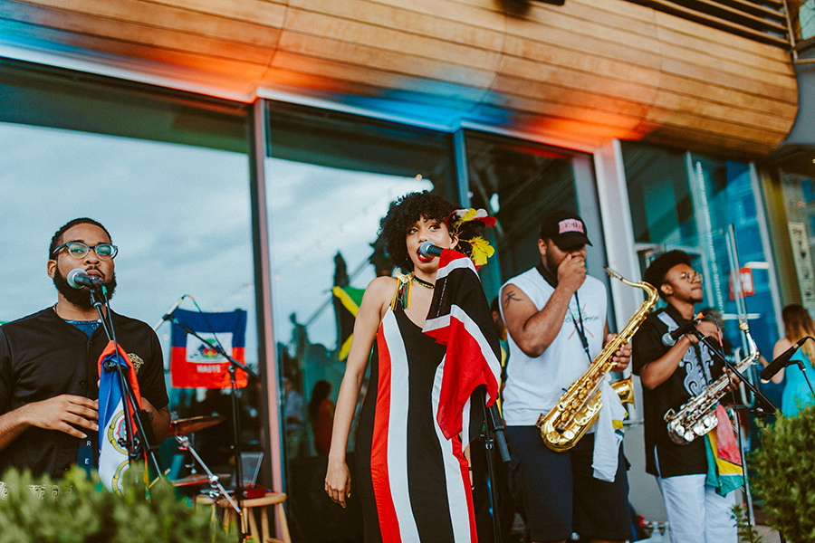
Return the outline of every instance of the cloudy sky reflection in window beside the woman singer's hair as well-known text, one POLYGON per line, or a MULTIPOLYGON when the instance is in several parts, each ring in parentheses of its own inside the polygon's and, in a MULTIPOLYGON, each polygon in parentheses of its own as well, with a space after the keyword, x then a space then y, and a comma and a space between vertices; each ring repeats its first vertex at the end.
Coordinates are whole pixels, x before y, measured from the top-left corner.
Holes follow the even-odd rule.
POLYGON ((274 331, 292 338, 289 316, 308 326, 312 343, 333 349, 336 320, 331 303, 334 255, 345 259, 350 286, 364 289, 374 278, 368 264, 379 221, 390 202, 433 184, 413 177, 343 170, 278 158, 266 159, 271 236, 274 331))

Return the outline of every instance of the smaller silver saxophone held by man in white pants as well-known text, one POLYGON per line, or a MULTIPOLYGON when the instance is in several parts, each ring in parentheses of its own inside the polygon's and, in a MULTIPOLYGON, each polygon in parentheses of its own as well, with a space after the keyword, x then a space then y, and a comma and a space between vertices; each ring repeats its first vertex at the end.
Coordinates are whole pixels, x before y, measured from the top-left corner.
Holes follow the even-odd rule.
MULTIPOLYGON (((753 366, 758 360, 759 351, 750 335, 747 323, 739 319, 739 328, 742 329, 747 338, 748 355, 736 365, 739 372, 743 372, 748 367, 753 366)), ((668 435, 671 441, 680 445, 691 443, 697 437, 702 437, 710 432, 719 423, 716 418, 716 405, 719 405, 721 398, 727 391, 730 379, 727 372, 720 376, 711 385, 705 388, 700 395, 695 395, 679 408, 678 412, 669 409, 665 414, 665 422, 668 425, 668 435)))

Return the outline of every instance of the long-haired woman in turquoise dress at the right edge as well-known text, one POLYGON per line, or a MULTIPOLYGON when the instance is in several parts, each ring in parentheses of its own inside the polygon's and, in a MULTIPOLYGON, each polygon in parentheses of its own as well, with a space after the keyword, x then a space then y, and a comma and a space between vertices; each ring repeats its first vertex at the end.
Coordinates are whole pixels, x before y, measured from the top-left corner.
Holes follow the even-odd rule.
MULTIPOLYGON (((791 348, 801 338, 807 336, 815 337, 815 322, 801 304, 791 303, 781 310, 781 319, 784 321, 784 334, 772 349, 772 357, 776 358, 788 348, 791 348)), ((815 360, 815 342, 808 341, 792 356, 792 361, 801 360, 810 379, 815 379, 815 369, 812 368, 812 360, 815 360)), ((813 402, 812 392, 801 368, 797 364, 791 364, 786 370, 781 368, 777 374, 772 376, 773 383, 781 383, 787 377, 784 391, 781 395, 781 413, 786 416, 796 416, 801 407, 810 405, 813 402)))

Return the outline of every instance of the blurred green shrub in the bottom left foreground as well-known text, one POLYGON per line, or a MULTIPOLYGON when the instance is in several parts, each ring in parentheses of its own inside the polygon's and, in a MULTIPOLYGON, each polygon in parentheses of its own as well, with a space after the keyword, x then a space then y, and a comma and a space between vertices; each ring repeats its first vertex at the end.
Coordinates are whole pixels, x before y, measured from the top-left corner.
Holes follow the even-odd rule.
POLYGON ((217 543, 235 540, 210 520, 211 510, 194 510, 178 500, 168 481, 145 497, 144 472, 134 466, 125 491, 108 491, 94 473, 74 467, 62 481, 29 472, 5 472, 0 496, 0 543, 109 543, 156 541, 217 543), (32 485, 41 492, 31 490, 32 485), (58 489, 62 489, 62 495, 58 489), (53 492, 54 491, 54 492, 53 492))

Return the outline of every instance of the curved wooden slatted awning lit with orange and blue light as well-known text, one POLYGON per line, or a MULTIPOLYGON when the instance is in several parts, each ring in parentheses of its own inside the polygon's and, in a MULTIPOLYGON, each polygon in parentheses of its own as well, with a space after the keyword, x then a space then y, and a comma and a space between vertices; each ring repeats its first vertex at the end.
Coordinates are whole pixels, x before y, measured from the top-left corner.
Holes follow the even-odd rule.
POLYGON ((627 0, 5 0, 4 42, 232 99, 288 93, 584 150, 763 155, 798 108, 788 52, 627 0))

